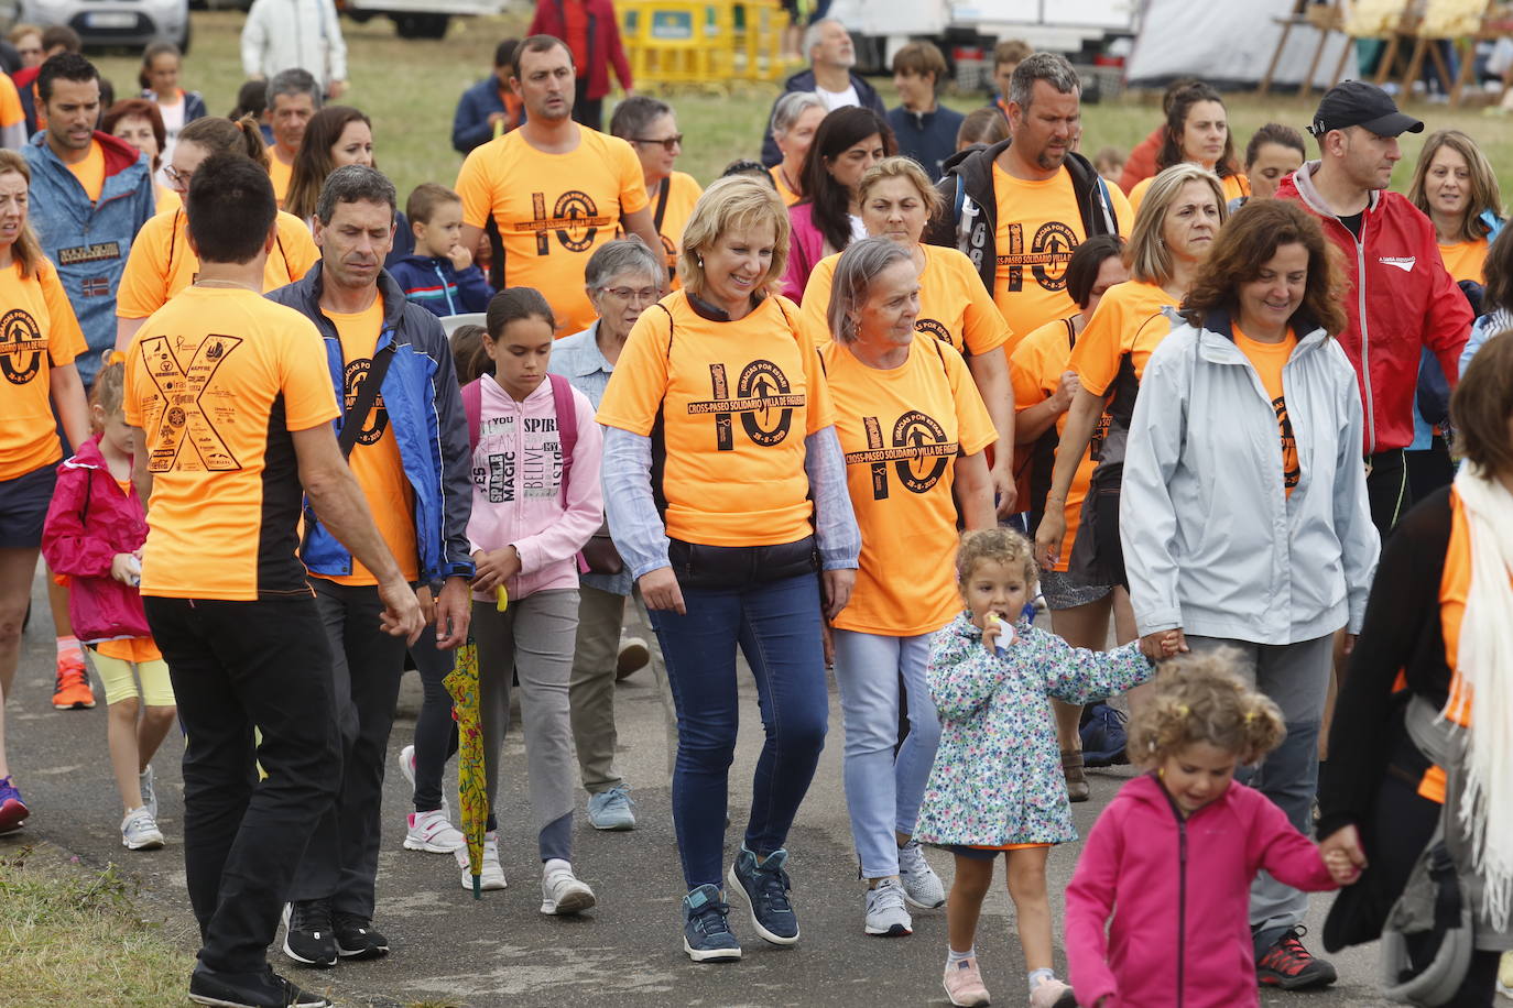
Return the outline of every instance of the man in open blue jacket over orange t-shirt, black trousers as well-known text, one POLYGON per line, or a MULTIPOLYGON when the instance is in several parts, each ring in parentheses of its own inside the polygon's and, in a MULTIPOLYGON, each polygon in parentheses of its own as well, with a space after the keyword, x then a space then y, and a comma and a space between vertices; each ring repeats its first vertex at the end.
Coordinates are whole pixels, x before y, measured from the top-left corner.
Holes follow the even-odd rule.
MULTIPOLYGON (((315 322, 322 376, 342 402, 340 446, 404 580, 430 609, 436 645, 468 639, 468 428, 440 320, 405 299, 383 269, 393 246, 393 183, 374 168, 331 172, 315 207, 321 261, 269 298, 315 322), (369 382, 378 388, 365 396, 369 382)), ((389 942, 372 928, 380 805, 404 642, 378 630, 378 577, 343 550, 334 529, 307 518, 300 556, 333 653, 333 730, 342 786, 319 818, 289 890, 284 954, 309 966, 375 958, 389 942)), ((416 825, 412 818, 410 827, 416 825)))

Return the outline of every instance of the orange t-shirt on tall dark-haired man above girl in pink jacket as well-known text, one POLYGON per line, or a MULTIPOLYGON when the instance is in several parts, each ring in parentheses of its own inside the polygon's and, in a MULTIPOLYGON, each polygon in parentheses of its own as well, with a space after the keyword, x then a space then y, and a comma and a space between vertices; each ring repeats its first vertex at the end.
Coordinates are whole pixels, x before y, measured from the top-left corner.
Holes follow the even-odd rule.
POLYGON ((648 204, 629 144, 583 125, 578 136, 572 153, 548 154, 519 130, 505 133, 475 148, 457 174, 463 224, 481 228, 493 215, 504 240, 504 286, 540 290, 561 335, 593 325, 584 266, 614 239, 625 215, 648 204))

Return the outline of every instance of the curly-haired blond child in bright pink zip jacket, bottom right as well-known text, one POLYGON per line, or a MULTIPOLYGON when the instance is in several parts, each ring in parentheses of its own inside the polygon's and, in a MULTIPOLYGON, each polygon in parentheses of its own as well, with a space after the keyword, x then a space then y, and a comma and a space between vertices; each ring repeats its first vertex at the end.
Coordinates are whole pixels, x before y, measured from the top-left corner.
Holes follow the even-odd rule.
POLYGON ((1098 816, 1067 889, 1079 1005, 1259 1005, 1248 919, 1256 872, 1306 892, 1359 875, 1344 855, 1325 864, 1277 805, 1233 781, 1238 763, 1260 760, 1285 733, 1277 706, 1235 668, 1226 651, 1167 663, 1130 722, 1130 759, 1151 772, 1098 816))

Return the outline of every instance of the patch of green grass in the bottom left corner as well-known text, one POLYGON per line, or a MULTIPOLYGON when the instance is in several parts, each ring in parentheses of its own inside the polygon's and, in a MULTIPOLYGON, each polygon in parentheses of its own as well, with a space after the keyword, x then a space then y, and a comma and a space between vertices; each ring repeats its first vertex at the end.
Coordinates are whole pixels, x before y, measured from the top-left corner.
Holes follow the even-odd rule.
POLYGON ((180 1003, 197 937, 144 920, 136 881, 113 864, 42 848, 0 857, 0 960, 26 1003, 180 1003))

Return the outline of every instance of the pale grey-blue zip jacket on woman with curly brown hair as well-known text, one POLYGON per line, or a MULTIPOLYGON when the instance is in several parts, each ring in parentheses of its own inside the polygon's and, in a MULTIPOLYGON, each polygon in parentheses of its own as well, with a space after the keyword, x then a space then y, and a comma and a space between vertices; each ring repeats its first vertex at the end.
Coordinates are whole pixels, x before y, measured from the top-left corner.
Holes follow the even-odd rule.
MULTIPOLYGON (((1301 319, 1295 320, 1301 322, 1301 319)), ((1283 369, 1298 482, 1277 410, 1230 320, 1182 325, 1145 364, 1120 536, 1139 632, 1295 644, 1360 630, 1378 540, 1360 462, 1356 370, 1312 323, 1283 369)))

